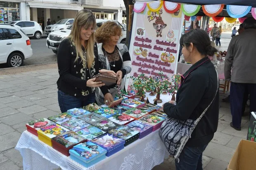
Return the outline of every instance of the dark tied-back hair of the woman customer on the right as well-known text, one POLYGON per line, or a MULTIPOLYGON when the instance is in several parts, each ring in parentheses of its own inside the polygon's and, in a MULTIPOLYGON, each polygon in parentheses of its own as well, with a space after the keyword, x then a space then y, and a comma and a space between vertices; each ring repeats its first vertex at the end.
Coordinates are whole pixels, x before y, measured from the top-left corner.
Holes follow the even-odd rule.
POLYGON ((185 33, 180 38, 180 45, 190 47, 190 43, 193 43, 197 51, 205 56, 213 56, 218 50, 211 46, 211 40, 206 31, 201 29, 194 29, 185 33))

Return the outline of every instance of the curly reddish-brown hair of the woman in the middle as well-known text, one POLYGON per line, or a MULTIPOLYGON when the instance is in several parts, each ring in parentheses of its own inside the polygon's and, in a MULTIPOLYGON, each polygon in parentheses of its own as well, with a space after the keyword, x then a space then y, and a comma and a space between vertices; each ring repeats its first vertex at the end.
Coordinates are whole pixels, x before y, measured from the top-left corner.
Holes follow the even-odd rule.
POLYGON ((107 43, 112 36, 122 36, 122 28, 114 21, 107 21, 96 30, 95 38, 97 43, 107 43))

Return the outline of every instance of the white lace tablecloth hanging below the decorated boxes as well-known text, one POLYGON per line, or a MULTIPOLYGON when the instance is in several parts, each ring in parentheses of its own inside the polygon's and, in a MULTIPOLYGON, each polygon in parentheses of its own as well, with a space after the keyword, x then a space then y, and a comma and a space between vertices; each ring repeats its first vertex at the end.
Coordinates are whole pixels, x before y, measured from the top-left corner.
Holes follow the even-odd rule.
POLYGON ((28 131, 22 133, 16 149, 23 157, 24 170, 151 170, 168 156, 158 132, 156 130, 142 139, 137 139, 89 168, 76 163, 69 156, 64 156, 28 131))

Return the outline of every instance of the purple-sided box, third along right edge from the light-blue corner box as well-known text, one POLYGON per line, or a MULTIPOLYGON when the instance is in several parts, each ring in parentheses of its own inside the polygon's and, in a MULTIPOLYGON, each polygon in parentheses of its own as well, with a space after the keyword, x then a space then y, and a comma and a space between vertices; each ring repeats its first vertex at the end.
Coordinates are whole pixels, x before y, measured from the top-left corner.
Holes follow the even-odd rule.
POLYGON ((135 120, 127 125, 131 129, 140 132, 139 139, 149 135, 149 133, 153 130, 153 125, 149 125, 148 123, 142 122, 140 120, 135 120))

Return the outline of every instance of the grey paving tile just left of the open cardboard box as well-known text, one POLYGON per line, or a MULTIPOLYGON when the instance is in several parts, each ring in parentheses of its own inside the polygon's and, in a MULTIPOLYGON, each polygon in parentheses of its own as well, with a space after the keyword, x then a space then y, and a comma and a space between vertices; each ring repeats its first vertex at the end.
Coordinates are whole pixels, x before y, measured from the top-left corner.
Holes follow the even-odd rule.
POLYGON ((210 142, 204 151, 205 156, 229 162, 235 153, 235 149, 210 142))

